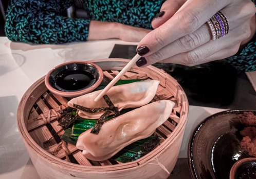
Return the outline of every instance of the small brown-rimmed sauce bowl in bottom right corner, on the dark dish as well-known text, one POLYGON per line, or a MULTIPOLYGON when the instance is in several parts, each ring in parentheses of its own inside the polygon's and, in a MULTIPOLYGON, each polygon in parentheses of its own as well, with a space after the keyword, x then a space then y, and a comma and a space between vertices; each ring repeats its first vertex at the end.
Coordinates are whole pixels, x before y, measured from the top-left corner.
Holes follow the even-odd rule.
POLYGON ((256 158, 245 158, 234 163, 230 170, 230 179, 255 179, 256 158))

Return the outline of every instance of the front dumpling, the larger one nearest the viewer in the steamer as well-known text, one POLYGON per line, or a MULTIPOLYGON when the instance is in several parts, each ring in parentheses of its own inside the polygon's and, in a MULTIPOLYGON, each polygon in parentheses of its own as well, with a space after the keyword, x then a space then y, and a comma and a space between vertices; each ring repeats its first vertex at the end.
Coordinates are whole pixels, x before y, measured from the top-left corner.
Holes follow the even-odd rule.
POLYGON ((174 102, 161 100, 136 108, 105 122, 98 135, 86 130, 76 147, 89 160, 109 159, 125 146, 151 136, 169 118, 173 106, 174 102))

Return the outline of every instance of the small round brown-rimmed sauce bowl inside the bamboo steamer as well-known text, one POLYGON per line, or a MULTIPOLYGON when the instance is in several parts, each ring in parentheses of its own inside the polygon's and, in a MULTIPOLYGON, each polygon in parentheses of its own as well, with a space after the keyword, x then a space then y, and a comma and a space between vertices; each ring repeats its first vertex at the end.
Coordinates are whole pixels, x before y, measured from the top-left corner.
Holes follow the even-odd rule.
POLYGON ((89 61, 71 61, 51 69, 45 85, 51 93, 77 97, 92 92, 103 80, 102 69, 89 61))

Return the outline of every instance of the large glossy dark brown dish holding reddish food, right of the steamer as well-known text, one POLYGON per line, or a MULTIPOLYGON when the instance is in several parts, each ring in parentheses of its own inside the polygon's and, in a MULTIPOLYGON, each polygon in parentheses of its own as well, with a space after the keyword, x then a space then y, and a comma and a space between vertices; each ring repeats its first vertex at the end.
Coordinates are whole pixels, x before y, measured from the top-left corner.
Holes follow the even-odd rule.
POLYGON ((228 179, 233 164, 249 155, 240 147, 244 125, 238 115, 244 111, 226 110, 209 116, 193 131, 189 146, 189 169, 193 179, 228 179))

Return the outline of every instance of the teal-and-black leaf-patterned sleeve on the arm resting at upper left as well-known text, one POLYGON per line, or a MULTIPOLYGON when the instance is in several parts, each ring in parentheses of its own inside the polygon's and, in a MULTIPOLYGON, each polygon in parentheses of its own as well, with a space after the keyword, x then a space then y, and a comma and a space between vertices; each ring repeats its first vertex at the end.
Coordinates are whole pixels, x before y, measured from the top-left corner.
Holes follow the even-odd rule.
POLYGON ((11 0, 5 33, 12 41, 59 44, 86 41, 89 19, 64 17, 72 0, 11 0))

